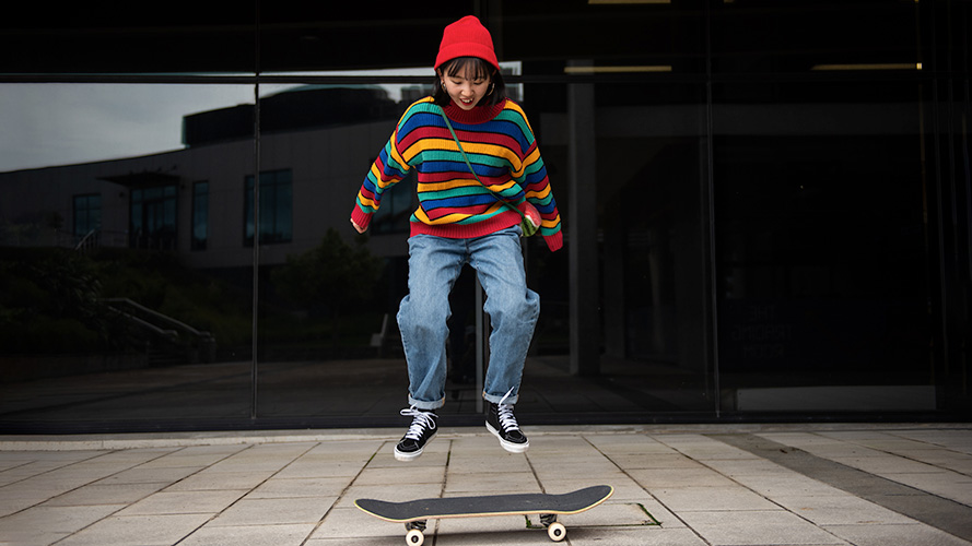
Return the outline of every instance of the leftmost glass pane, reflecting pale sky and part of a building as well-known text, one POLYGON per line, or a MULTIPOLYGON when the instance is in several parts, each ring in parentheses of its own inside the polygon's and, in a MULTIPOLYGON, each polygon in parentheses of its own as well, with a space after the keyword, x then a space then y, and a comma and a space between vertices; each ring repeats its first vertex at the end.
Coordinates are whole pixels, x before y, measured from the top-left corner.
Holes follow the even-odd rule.
POLYGON ((0 239, 16 247, 0 262, 21 294, 0 297, 4 430, 249 417, 253 251, 223 210, 242 207, 254 142, 189 144, 181 128, 253 93, 0 85, 0 239), (202 252, 191 250, 196 180, 223 226, 202 252), (98 226, 79 248, 73 232, 98 226))

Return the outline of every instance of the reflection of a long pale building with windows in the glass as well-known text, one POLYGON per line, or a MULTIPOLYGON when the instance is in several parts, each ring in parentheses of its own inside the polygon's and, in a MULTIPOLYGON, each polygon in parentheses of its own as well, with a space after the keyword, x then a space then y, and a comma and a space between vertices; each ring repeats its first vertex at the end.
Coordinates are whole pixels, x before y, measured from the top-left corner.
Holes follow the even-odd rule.
MULTIPOLYGON (((403 107, 375 86, 312 86, 260 100, 264 263, 346 227, 367 164, 403 107)), ((0 174, 3 244, 172 250, 194 268, 247 266, 253 120, 253 105, 195 114, 184 119, 185 150, 0 174)))

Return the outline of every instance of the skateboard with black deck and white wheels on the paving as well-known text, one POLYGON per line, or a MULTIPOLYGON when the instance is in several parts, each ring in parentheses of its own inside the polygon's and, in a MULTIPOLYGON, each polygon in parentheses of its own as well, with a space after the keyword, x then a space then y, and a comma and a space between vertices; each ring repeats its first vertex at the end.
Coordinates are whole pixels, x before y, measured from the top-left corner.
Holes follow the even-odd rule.
POLYGON ((482 518, 489 515, 539 514, 547 527, 547 535, 554 542, 563 541, 566 527, 557 521, 558 515, 575 514, 600 505, 614 492, 609 485, 598 485, 563 495, 542 492, 520 495, 490 495, 480 497, 450 497, 387 502, 375 499, 358 499, 354 506, 380 520, 405 523, 405 542, 421 546, 425 542, 425 521, 443 518, 482 518))

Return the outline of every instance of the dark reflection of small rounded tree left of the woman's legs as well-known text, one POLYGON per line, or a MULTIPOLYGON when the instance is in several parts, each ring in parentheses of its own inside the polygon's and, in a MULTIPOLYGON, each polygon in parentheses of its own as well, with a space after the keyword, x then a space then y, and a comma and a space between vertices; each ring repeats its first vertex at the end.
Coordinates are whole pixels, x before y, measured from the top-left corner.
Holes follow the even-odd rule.
POLYGON ((385 264, 364 246, 364 238, 348 245, 335 229, 328 229, 317 247, 288 256, 276 270, 272 282, 279 294, 312 313, 327 313, 337 344, 338 319, 353 306, 371 301, 385 264), (342 312, 343 311, 343 312, 342 312))

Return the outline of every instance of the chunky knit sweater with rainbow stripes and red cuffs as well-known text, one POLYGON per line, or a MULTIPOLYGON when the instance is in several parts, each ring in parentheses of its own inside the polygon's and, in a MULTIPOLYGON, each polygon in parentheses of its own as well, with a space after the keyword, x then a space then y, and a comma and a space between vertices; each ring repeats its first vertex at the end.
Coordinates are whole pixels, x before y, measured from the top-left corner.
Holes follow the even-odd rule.
POLYGON ((520 210, 529 201, 540 212, 547 247, 563 246, 560 213, 550 190, 547 168, 534 131, 519 105, 505 100, 495 106, 462 110, 445 108, 462 150, 480 183, 469 171, 456 145, 442 108, 425 97, 402 115, 372 165, 351 219, 367 227, 382 204, 382 195, 415 169, 419 209, 411 216, 411 235, 473 238, 518 225, 520 210))

